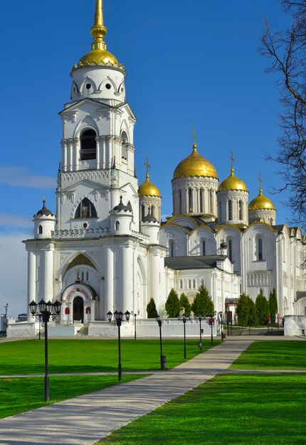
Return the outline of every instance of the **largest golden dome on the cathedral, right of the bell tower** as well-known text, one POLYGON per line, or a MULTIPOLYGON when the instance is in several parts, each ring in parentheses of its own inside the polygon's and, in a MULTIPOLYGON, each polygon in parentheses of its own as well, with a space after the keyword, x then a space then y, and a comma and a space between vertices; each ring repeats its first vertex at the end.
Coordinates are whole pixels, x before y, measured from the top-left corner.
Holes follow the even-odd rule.
POLYGON ((218 179, 216 168, 214 168, 213 164, 196 151, 196 143, 194 143, 192 153, 176 166, 173 174, 174 179, 188 176, 206 176, 218 179))

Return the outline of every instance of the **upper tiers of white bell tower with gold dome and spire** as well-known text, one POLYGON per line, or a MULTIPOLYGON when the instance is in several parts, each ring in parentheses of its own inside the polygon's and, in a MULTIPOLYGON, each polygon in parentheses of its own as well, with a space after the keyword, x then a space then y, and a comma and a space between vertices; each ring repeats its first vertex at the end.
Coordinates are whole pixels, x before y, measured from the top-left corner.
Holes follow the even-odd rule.
POLYGON ((134 124, 125 102, 124 66, 107 50, 102 0, 95 1, 91 50, 70 73, 71 102, 60 117, 63 139, 57 187, 58 230, 110 228, 109 213, 123 196, 139 230, 134 177, 134 124))

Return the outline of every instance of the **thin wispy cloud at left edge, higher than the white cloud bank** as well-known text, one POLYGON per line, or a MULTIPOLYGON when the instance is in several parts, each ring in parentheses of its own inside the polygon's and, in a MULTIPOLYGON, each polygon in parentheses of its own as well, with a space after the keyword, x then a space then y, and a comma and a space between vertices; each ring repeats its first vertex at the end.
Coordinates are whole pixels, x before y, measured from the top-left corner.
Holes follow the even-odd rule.
POLYGON ((12 187, 54 188, 56 180, 50 176, 31 175, 26 167, 0 167, 0 182, 12 187))

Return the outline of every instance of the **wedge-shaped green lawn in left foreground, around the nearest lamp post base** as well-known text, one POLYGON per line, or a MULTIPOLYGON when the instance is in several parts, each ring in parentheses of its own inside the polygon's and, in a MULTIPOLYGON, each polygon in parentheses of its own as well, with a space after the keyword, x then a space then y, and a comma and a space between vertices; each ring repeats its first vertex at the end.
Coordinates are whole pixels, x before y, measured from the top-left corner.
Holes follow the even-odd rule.
MULTIPOLYGON (((143 377, 124 375, 122 383, 143 377)), ((50 377, 50 402, 44 402, 43 377, 14 377, 0 379, 0 419, 118 385, 116 375, 50 377)))

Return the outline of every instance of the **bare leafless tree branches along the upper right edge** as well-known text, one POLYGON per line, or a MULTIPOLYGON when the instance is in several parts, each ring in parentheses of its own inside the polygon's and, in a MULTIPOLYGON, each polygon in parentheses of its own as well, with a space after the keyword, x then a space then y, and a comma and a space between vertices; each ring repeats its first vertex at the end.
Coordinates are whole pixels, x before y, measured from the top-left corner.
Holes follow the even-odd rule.
POLYGON ((271 61, 268 73, 278 75, 282 134, 276 156, 284 186, 290 192, 288 205, 295 222, 306 227, 306 0, 280 0, 291 24, 272 31, 268 20, 260 38, 260 53, 271 61))

